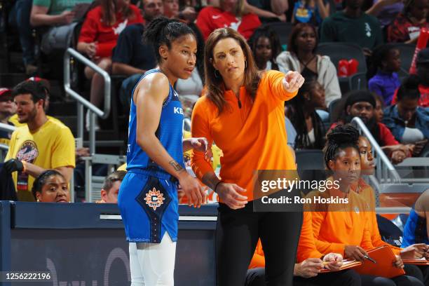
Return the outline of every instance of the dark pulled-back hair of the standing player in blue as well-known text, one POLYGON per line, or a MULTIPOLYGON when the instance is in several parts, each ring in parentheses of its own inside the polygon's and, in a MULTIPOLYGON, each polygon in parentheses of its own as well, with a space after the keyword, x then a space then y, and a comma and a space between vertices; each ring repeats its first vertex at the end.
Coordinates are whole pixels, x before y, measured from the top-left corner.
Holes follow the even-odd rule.
POLYGON ((161 62, 159 47, 165 45, 168 48, 171 48, 172 41, 175 41, 175 39, 187 34, 191 34, 196 37, 192 29, 184 22, 165 17, 158 17, 151 20, 149 25, 147 25, 143 33, 143 41, 154 45, 156 60, 161 62))

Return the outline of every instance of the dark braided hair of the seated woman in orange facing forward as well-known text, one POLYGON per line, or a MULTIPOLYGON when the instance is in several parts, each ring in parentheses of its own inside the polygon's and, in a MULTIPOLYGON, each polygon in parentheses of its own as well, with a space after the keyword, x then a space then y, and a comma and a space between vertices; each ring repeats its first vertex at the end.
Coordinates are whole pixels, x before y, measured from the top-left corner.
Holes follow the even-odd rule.
POLYGON ((352 147, 359 153, 357 140, 359 139, 359 131, 351 124, 337 125, 327 133, 327 142, 323 153, 325 154, 325 165, 329 169, 329 161, 334 161, 341 149, 352 147))

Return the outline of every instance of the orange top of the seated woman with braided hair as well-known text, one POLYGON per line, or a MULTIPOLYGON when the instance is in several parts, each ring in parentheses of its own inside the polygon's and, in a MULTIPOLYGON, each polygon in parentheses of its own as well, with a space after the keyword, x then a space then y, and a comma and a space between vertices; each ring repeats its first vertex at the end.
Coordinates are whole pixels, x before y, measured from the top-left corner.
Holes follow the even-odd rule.
MULTIPOLYGON (((312 191, 308 193, 307 198, 315 196, 329 198, 339 195, 330 189, 325 192, 312 191)), ((353 205, 353 210, 332 210, 333 205, 329 205, 326 211, 311 212, 313 234, 318 251, 325 254, 335 252, 344 257, 346 245, 359 245, 365 250, 374 248, 368 226, 368 203, 354 191, 348 193, 348 201, 353 205)))

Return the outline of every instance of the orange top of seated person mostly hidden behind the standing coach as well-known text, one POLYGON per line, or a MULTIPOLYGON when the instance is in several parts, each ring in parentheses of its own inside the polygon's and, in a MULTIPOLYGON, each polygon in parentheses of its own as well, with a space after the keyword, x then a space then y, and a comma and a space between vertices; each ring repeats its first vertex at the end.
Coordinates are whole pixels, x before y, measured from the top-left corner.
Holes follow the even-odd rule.
MULTIPOLYGON (((297 263, 301 263, 308 258, 320 258, 322 256, 323 254, 318 252, 315 247, 313 229, 311 226, 311 212, 304 212, 301 234, 299 235, 297 263)), ((257 267, 265 267, 265 256, 264 250, 262 250, 261 240, 258 241, 252 261, 250 261, 249 269, 257 267)))

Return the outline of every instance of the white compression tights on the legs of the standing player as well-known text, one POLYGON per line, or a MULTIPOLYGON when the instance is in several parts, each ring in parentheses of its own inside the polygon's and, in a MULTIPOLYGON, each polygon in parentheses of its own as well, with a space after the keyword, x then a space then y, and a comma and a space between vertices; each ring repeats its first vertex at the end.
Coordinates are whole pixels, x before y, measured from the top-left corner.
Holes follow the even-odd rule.
POLYGON ((174 286, 176 243, 130 243, 131 286, 174 286))

